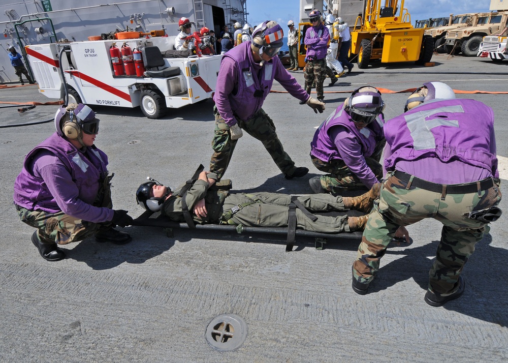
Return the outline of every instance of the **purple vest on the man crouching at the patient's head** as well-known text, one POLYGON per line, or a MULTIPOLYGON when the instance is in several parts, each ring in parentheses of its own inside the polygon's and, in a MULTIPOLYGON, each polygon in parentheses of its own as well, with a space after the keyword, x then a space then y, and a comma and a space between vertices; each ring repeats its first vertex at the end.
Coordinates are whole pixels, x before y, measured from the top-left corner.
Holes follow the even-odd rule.
POLYGON ((60 211, 44 180, 30 170, 32 159, 42 149, 49 150, 67 167, 79 190, 79 199, 93 204, 99 191, 99 182, 108 174, 108 157, 96 146, 88 147, 85 156, 56 132, 26 156, 23 170, 14 183, 14 202, 30 210, 38 209, 49 213, 60 211))

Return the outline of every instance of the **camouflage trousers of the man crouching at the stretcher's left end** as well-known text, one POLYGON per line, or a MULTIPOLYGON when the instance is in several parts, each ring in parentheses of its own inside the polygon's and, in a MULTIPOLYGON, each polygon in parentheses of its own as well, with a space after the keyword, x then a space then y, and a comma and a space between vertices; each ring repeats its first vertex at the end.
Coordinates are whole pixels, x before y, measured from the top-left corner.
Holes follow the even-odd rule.
MULTIPOLYGON (((112 208, 111 179, 108 176, 97 194, 94 206, 112 208)), ((16 205, 19 218, 27 225, 37 228, 42 243, 52 245, 67 245, 92 237, 101 230, 111 228, 111 222, 91 223, 66 215, 62 211, 49 213, 42 210, 28 210, 16 205)))

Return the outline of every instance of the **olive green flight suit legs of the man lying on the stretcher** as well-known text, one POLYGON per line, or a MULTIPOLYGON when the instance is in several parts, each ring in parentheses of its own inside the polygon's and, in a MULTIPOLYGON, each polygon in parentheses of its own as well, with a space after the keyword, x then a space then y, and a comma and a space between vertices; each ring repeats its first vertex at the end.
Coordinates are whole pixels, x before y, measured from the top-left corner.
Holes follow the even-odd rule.
MULTIPOLYGON (((298 197, 298 201, 310 212, 346 211, 341 196, 330 194, 313 194, 298 197)), ((232 207, 244 204, 235 213, 228 224, 252 227, 287 227, 291 196, 278 193, 230 194, 224 202, 227 213, 232 207), (248 204, 251 203, 251 204, 248 204), (248 204, 248 205, 245 205, 248 204)), ((320 233, 350 232, 347 215, 321 216, 312 221, 302 210, 296 209, 296 225, 299 229, 320 233)))

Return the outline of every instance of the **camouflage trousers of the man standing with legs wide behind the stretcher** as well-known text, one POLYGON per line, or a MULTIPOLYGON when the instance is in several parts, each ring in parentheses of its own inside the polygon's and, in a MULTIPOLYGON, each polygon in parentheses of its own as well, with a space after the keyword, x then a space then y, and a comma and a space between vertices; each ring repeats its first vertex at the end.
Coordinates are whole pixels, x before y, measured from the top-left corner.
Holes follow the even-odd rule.
MULTIPOLYGON (((229 127, 217 111, 217 107, 213 107, 215 115, 215 130, 212 140, 213 155, 210 159, 210 171, 217 174, 220 179, 223 177, 233 156, 235 146, 238 140, 231 139, 229 127)), ((284 175, 292 175, 295 170, 295 162, 284 151, 284 147, 277 137, 273 120, 260 109, 252 117, 247 120, 237 118, 238 126, 263 143, 267 152, 272 157, 275 164, 284 175)))

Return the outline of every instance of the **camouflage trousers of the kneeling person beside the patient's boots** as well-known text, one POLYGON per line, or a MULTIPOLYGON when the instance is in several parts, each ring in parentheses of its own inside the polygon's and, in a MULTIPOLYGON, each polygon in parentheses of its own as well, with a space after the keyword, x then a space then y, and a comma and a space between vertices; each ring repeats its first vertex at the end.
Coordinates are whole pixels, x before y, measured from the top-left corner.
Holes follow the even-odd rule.
MULTIPOLYGON (((379 160, 383 154, 386 140, 377 143, 374 153, 365 158, 367 166, 372 170, 378 180, 383 177, 383 166, 379 160)), ((314 156, 310 156, 314 166, 328 174, 320 176, 320 182, 323 189, 332 194, 341 194, 344 190, 368 189, 362 181, 347 167, 343 160, 332 159, 330 162, 323 161, 314 156)))

